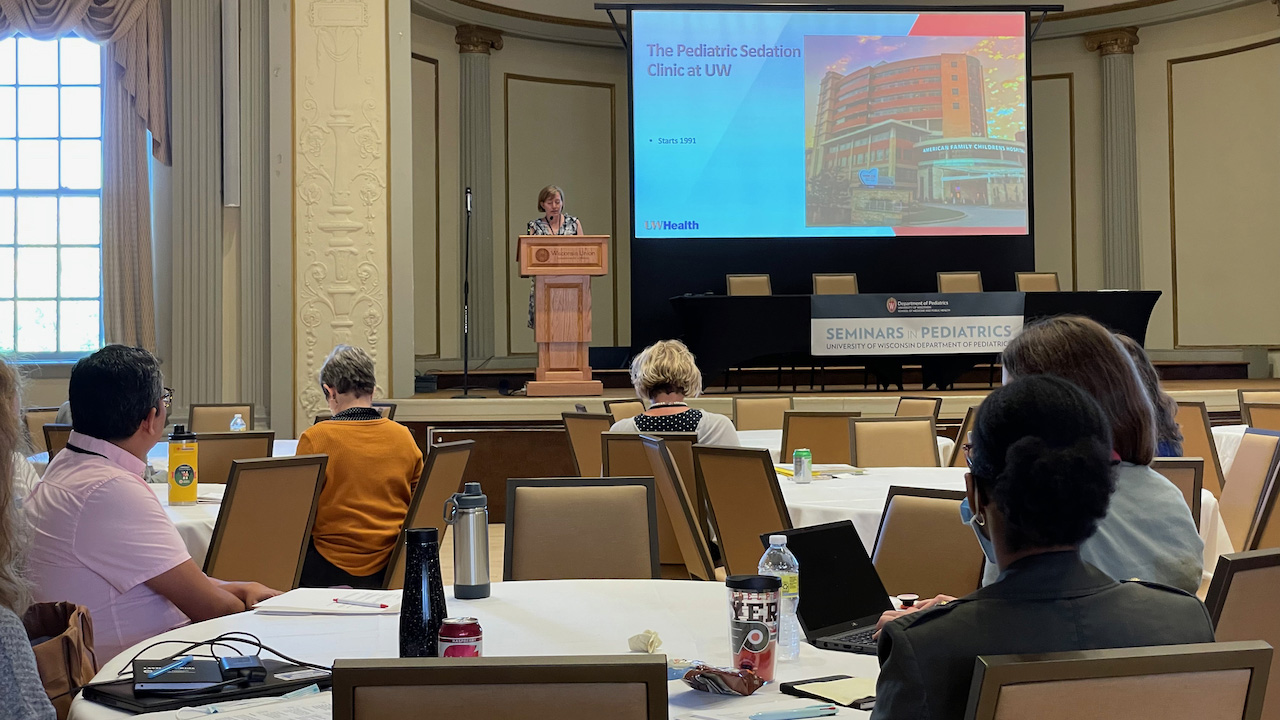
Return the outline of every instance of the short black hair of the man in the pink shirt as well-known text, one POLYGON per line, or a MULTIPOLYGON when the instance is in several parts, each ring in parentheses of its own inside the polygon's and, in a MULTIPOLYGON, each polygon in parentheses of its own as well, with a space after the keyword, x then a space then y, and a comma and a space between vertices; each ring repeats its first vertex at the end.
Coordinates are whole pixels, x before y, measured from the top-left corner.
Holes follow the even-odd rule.
POLYGON ((108 345, 72 368, 72 429, 114 441, 132 437, 164 392, 160 361, 141 347, 108 345))

